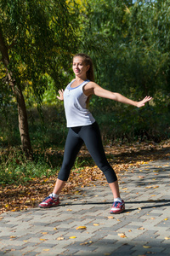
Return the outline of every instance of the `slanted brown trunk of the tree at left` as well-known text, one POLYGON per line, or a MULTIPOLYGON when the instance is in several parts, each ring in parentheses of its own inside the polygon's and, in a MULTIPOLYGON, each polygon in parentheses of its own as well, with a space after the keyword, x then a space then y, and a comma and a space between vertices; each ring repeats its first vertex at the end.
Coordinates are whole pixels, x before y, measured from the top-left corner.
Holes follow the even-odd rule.
POLYGON ((8 71, 9 57, 8 46, 5 44, 3 38, 3 32, 0 26, 0 52, 2 54, 3 65, 6 67, 8 84, 11 86, 14 96, 18 104, 18 117, 19 117, 19 131, 22 150, 26 154, 27 158, 32 159, 31 140, 28 131, 28 120, 26 113, 26 103, 20 85, 15 85, 14 78, 11 71, 8 71))

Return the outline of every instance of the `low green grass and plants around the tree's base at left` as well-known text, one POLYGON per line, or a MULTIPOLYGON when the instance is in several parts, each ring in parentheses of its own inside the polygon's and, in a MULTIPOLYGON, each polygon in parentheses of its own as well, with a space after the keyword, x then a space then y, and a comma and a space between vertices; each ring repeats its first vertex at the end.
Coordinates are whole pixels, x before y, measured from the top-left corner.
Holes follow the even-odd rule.
POLYGON ((57 166, 50 166, 47 157, 41 152, 35 154, 35 160, 27 160, 20 148, 1 151, 0 184, 27 183, 36 177, 50 177, 58 172, 57 166))

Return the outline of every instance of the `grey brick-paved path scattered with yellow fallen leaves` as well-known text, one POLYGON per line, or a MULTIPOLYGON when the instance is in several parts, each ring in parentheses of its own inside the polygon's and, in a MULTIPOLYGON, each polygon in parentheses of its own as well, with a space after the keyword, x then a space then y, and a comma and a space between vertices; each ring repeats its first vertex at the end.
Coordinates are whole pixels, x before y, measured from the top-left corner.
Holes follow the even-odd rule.
POLYGON ((110 189, 98 184, 59 207, 3 213, 0 255, 170 255, 169 178, 170 160, 122 173, 127 210, 117 215, 109 213, 110 189))

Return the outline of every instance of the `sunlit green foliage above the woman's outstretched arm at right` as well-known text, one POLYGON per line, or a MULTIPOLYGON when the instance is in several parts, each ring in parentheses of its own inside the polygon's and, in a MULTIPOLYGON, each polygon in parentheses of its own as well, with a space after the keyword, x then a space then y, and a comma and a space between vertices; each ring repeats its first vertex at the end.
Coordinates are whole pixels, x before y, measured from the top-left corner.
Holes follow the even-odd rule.
POLYGON ((82 51, 94 59, 97 83, 134 100, 167 94, 169 102, 169 6, 169 1, 88 1, 82 51))

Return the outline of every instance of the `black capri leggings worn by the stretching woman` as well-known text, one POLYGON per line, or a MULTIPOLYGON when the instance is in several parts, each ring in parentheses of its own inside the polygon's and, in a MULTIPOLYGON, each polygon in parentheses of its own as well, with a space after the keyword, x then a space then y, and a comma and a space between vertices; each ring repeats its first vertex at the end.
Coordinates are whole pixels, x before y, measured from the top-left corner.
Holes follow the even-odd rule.
POLYGON ((94 122, 93 125, 78 126, 69 128, 69 132, 65 142, 65 153, 63 164, 59 171, 58 178, 67 181, 71 168, 77 158, 77 154, 85 143, 91 154, 94 162, 99 169, 104 172, 108 183, 113 183, 117 180, 116 173, 108 163, 103 144, 101 141, 99 125, 94 122))

